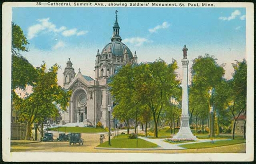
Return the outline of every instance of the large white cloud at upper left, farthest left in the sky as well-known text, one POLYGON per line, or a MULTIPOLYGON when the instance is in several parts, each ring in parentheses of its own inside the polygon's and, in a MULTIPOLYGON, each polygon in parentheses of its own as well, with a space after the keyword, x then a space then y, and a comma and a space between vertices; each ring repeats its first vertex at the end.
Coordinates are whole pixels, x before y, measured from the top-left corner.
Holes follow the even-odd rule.
POLYGON ((55 24, 49 21, 50 18, 37 19, 36 25, 28 27, 27 39, 33 39, 43 30, 53 31, 53 32, 61 32, 66 29, 66 27, 62 26, 60 28, 56 28, 55 24))

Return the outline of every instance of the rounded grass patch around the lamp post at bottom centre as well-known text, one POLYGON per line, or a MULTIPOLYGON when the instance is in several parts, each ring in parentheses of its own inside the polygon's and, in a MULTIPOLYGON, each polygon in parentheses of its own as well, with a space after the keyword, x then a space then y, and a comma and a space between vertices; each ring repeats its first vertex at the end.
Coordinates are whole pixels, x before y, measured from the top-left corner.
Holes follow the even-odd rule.
POLYGON ((138 147, 136 146, 136 139, 128 139, 128 135, 119 135, 114 139, 111 139, 111 146, 109 146, 108 141, 102 143, 97 147, 115 147, 115 148, 154 148, 157 147, 156 144, 145 141, 138 138, 138 147))

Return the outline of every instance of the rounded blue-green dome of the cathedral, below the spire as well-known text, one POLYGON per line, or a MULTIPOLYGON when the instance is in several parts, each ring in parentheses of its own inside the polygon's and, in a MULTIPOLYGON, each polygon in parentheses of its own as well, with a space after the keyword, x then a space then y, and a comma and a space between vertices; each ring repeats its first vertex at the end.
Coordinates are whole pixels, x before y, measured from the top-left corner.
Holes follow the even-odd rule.
POLYGON ((133 55, 131 50, 126 46, 124 43, 121 41, 112 41, 109 44, 107 44, 101 51, 101 55, 104 54, 104 52, 109 52, 111 50, 111 53, 115 56, 122 56, 124 55, 127 51, 128 53, 128 58, 132 59, 133 55))

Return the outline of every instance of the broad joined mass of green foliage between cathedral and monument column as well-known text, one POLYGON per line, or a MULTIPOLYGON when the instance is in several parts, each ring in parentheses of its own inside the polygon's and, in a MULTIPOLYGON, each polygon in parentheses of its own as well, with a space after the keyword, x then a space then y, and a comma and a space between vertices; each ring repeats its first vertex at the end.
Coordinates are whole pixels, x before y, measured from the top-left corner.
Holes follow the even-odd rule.
POLYGON ((153 63, 127 64, 120 68, 118 73, 111 76, 109 83, 116 103, 114 117, 123 121, 127 128, 136 115, 138 121, 142 122, 148 122, 153 117, 157 137, 161 111, 169 98, 179 91, 180 82, 176 80, 174 72, 177 68, 176 61, 166 64, 161 59, 153 63))

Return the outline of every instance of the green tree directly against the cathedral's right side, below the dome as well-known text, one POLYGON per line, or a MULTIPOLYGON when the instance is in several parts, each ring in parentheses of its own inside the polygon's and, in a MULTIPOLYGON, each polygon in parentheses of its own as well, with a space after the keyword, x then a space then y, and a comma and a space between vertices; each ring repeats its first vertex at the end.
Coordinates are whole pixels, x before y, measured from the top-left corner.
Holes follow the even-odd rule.
POLYGON ((139 108, 135 97, 134 67, 136 65, 124 65, 110 77, 109 82, 109 90, 116 103, 112 114, 125 123, 128 134, 131 122, 136 119, 136 111, 139 108))

